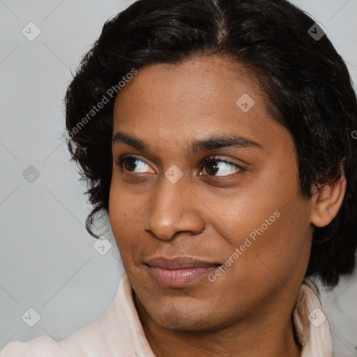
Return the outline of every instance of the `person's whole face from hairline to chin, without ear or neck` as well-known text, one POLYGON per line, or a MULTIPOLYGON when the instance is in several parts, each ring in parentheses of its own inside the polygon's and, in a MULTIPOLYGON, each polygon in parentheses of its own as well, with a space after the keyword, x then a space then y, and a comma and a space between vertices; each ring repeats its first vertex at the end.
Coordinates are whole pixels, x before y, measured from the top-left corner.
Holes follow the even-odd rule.
POLYGON ((292 307, 311 205, 291 135, 238 63, 139 70, 116 98, 114 137, 109 218, 155 324, 208 331, 292 307))

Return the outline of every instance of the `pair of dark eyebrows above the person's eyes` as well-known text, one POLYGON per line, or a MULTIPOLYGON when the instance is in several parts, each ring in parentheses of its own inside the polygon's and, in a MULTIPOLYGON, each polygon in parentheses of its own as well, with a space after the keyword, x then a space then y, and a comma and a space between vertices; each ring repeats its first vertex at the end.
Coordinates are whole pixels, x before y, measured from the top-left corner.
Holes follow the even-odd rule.
MULTIPOLYGON (((146 144, 144 140, 139 139, 137 137, 132 137, 126 132, 121 131, 116 132, 112 137, 112 146, 114 146, 115 144, 126 144, 134 149, 138 149, 141 151, 153 151, 149 144, 146 144)), ((243 137, 241 135, 215 135, 213 137, 206 137, 204 139, 194 140, 188 145, 188 148, 185 149, 185 155, 189 157, 190 155, 198 153, 199 151, 221 149, 226 147, 232 147, 237 149, 264 149, 264 147, 258 142, 255 142, 252 139, 248 139, 247 137, 243 137)))

